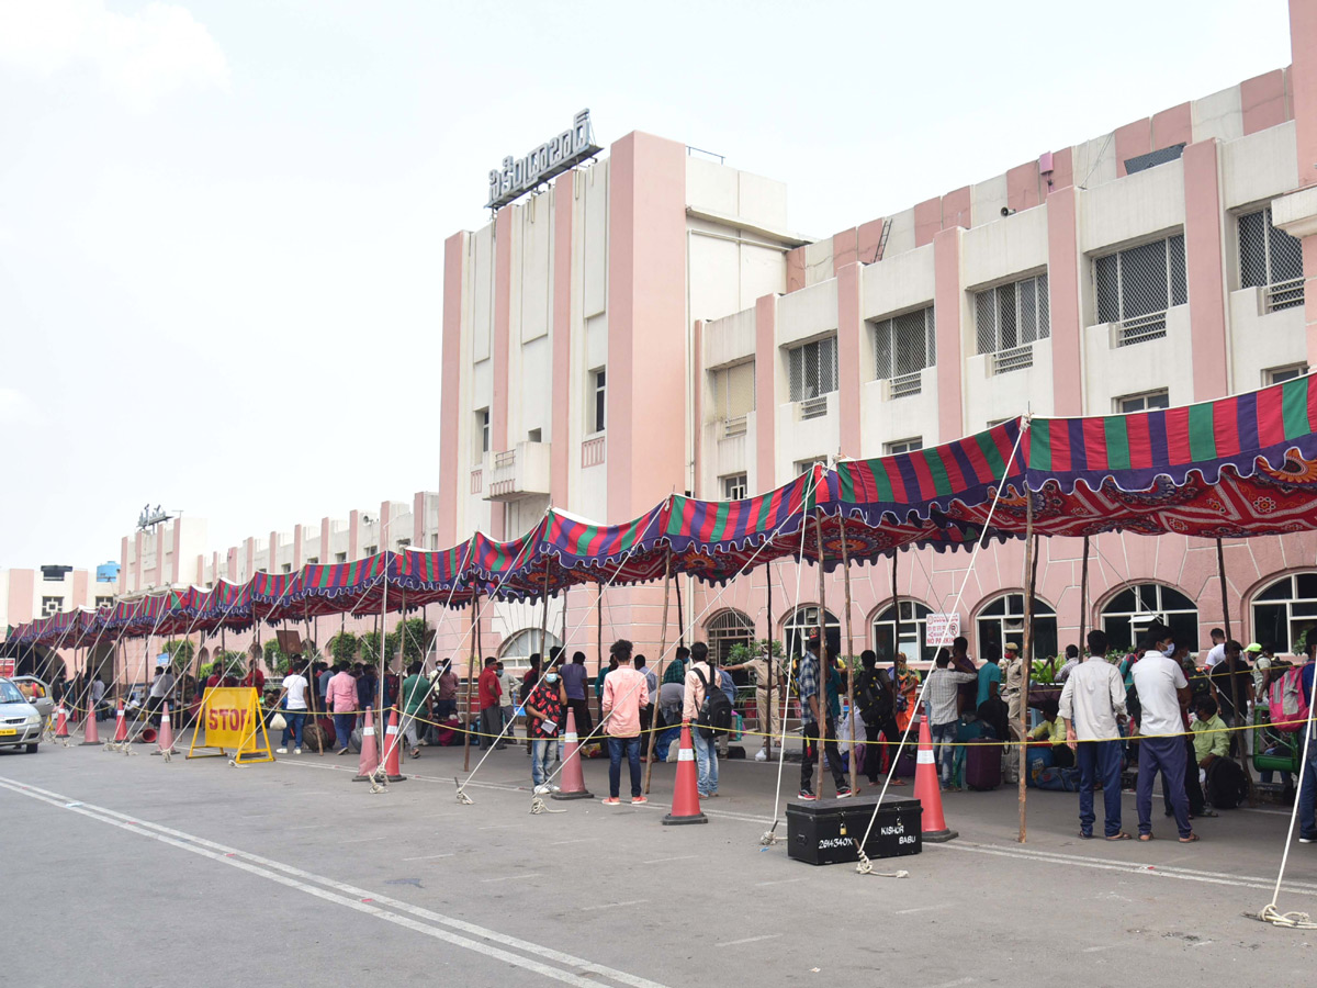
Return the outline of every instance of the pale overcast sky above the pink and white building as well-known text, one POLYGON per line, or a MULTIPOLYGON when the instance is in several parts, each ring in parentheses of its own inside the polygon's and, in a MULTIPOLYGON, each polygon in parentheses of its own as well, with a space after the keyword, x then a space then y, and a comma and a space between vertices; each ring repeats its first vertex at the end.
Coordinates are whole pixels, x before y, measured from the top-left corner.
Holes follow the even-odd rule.
POLYGON ((0 0, 0 568, 435 490, 443 241, 581 108, 826 237, 1289 61, 1283 0, 0 0))

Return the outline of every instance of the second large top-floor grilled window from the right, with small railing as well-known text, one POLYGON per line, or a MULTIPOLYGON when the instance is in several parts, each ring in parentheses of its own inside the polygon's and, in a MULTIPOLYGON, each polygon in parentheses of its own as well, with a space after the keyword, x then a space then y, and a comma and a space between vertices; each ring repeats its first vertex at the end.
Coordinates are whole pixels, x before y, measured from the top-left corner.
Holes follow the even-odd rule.
POLYGON ((1121 323, 1118 346, 1166 336, 1166 312, 1189 300, 1184 236, 1126 248, 1093 260, 1097 321, 1121 323))

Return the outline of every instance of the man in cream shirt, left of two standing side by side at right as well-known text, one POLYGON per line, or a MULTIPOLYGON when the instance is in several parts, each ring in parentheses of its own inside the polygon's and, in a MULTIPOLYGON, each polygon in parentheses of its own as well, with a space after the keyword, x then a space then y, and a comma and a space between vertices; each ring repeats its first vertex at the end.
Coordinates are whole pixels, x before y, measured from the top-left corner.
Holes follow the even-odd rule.
POLYGON ((1088 632, 1085 661, 1075 665, 1062 688, 1060 715, 1065 743, 1079 765, 1079 835, 1093 837, 1093 786, 1102 782, 1108 840, 1129 840, 1121 830, 1121 728, 1125 722, 1125 681, 1106 661, 1106 632, 1088 632))

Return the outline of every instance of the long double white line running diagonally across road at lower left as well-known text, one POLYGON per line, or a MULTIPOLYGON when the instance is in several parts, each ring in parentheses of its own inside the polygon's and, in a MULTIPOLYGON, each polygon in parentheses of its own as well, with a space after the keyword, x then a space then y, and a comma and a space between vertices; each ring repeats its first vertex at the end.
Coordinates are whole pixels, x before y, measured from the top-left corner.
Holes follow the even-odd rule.
MULTIPOLYGON (((288 764, 288 763, 284 763, 288 764)), ((427 937, 433 937, 436 939, 445 941, 454 946, 462 947, 465 950, 473 950, 478 954, 485 954, 486 956, 494 958, 503 963, 515 964, 523 967, 528 971, 535 971, 545 977, 552 977, 557 981, 565 984, 578 985, 578 988, 599 988, 598 977, 585 979, 579 977, 573 972, 561 971, 558 968, 549 967, 531 958, 523 958, 518 954, 511 954, 510 951, 500 950, 499 947, 491 947, 483 941, 493 943, 502 943, 507 947, 514 947, 516 950, 524 951, 525 954, 535 954, 547 960, 553 960, 558 964, 565 964, 577 971, 583 971, 586 974, 601 975, 618 984, 630 985, 630 988, 665 988, 657 981, 651 981, 649 979, 640 977, 639 975, 632 975, 626 971, 618 971, 616 968, 607 967, 605 964, 595 964, 583 958, 566 954, 553 947, 545 947, 531 941, 523 941, 518 937, 511 937, 508 934, 499 933, 497 930, 490 930, 475 923, 466 922, 465 919, 457 919, 450 916, 444 916, 443 913, 436 913, 431 909, 423 909, 420 906, 414 906, 410 902, 403 902, 390 896, 381 896, 367 889, 358 888, 356 885, 349 885, 335 879, 325 877, 323 875, 316 875, 313 872, 304 871, 302 868, 295 868, 291 864, 283 864, 282 862, 275 862, 269 858, 262 858, 257 854, 250 854, 248 851, 240 851, 225 844, 216 843, 213 840, 207 840, 205 838, 195 837, 187 834, 182 830, 175 830, 173 827, 166 827, 159 823, 151 823, 144 819, 133 819, 133 817, 117 813, 115 810, 107 809, 104 806, 95 806, 92 804, 83 804, 76 808, 67 806, 67 796, 59 796, 47 789, 41 789, 34 785, 20 782, 13 779, 5 779, 0 776, 0 788, 16 792, 20 796, 26 796, 33 800, 49 804, 58 809, 68 810, 70 813, 76 813, 79 815, 87 817, 88 819, 95 819, 100 823, 108 823, 113 827, 119 827, 130 834, 137 834, 138 837, 150 838, 153 840, 159 840, 161 843, 176 847, 183 851, 190 851, 191 854, 208 858, 220 864, 228 864, 233 868, 246 871, 252 875, 275 881, 281 885, 288 888, 295 888, 300 892, 306 892, 309 896, 317 898, 336 902, 338 905, 345 905, 350 909, 356 909, 360 913, 366 913, 374 916, 375 918, 383 919, 386 922, 403 926, 416 933, 423 933, 427 937), (317 883, 325 888, 316 888, 308 883, 317 883), (335 892, 328 892, 325 889, 335 889, 335 892), (336 894, 344 893, 344 894, 336 894), (348 898, 345 896, 352 896, 348 898), (398 916, 398 913, 390 913, 379 906, 387 906, 389 909, 395 909, 408 916, 398 916), (416 917, 410 918, 410 917, 416 917), (470 937, 479 937, 479 941, 469 939, 468 937, 460 937, 448 930, 436 929, 435 926, 427 926, 421 919, 437 923, 440 926, 446 926, 452 930, 460 930, 469 934, 470 937)))

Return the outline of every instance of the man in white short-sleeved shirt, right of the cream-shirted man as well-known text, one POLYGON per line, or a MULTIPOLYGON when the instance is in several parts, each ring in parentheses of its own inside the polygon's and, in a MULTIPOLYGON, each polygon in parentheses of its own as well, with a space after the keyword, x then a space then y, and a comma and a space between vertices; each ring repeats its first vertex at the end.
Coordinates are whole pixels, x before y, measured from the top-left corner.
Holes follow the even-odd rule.
POLYGON ((1139 725, 1139 840, 1152 839, 1152 782, 1162 772, 1162 790, 1171 793, 1171 809, 1180 831, 1180 843, 1198 839, 1189 826, 1189 800, 1184 792, 1188 757, 1180 735, 1184 719, 1180 707, 1189 702, 1189 681, 1171 659, 1175 636, 1160 622, 1148 626, 1143 657, 1134 664, 1134 689, 1139 694, 1143 722, 1139 725))

